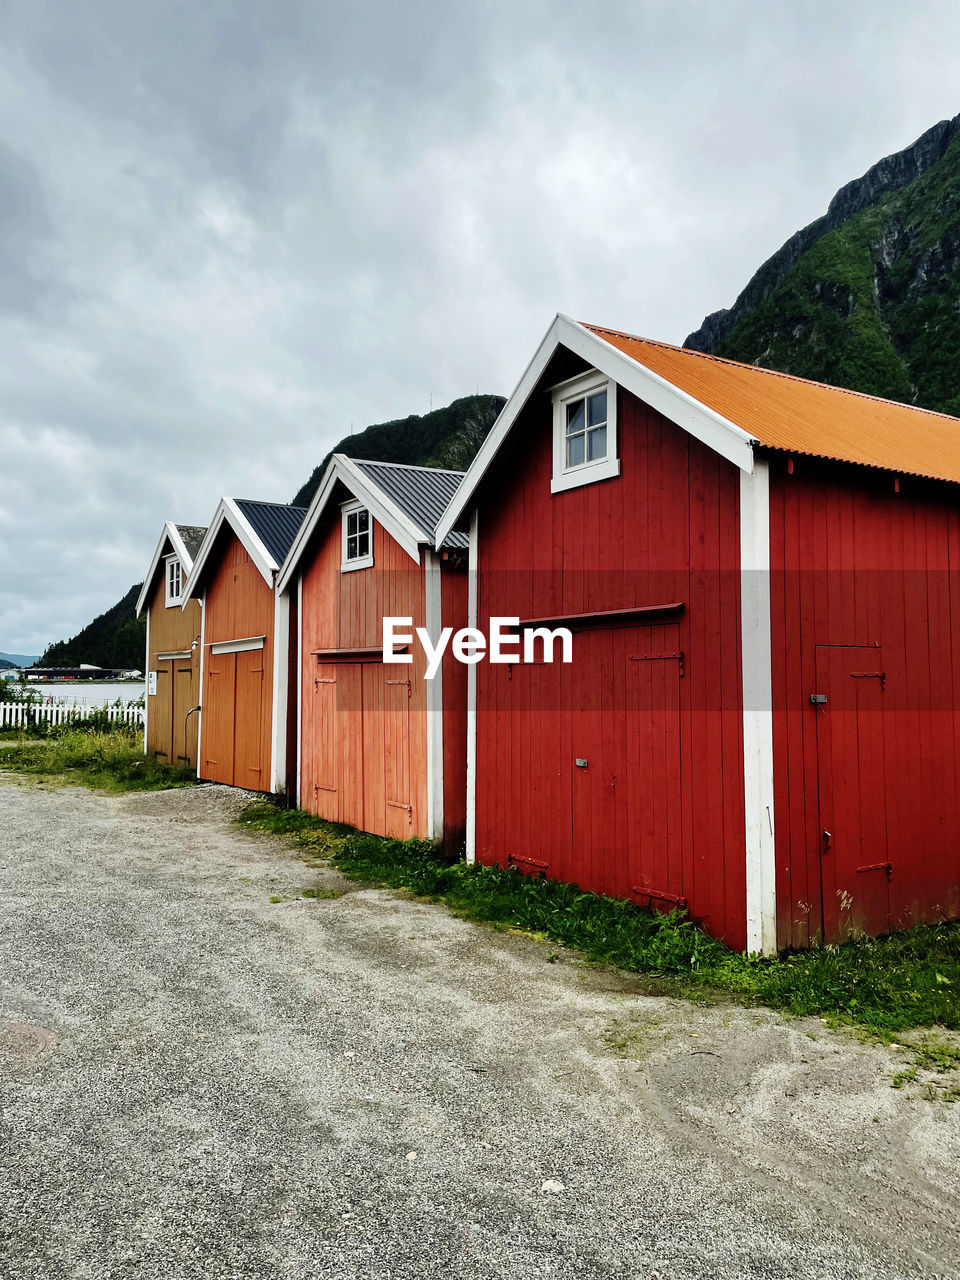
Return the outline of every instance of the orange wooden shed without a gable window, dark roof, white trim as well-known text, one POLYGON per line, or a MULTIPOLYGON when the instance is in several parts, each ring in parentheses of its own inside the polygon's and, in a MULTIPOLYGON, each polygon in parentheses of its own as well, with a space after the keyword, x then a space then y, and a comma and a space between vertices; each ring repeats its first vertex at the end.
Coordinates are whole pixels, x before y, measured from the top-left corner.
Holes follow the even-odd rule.
POLYGON ((303 516, 223 498, 197 553, 184 608, 202 600, 197 774, 210 782, 285 786, 289 611, 274 584, 303 516))

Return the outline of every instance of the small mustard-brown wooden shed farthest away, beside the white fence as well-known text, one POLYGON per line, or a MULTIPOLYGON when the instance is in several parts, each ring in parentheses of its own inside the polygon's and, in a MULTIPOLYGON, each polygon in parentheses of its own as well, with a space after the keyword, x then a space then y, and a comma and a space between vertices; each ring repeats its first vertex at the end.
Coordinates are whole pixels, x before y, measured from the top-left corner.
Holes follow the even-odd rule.
POLYGON ((182 605, 204 534, 168 521, 137 600, 137 617, 147 616, 143 750, 187 767, 197 763, 201 607, 182 605))

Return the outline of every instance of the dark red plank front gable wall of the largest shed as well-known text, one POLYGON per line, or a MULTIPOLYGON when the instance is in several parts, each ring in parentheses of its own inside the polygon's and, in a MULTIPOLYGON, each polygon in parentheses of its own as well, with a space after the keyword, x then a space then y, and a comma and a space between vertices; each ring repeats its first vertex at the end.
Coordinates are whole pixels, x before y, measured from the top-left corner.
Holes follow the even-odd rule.
POLYGON ((577 634, 571 667, 479 666, 477 856, 686 899, 742 947, 739 472, 622 389, 616 479, 550 494, 548 396, 512 438, 480 499, 480 626, 684 611, 577 634))

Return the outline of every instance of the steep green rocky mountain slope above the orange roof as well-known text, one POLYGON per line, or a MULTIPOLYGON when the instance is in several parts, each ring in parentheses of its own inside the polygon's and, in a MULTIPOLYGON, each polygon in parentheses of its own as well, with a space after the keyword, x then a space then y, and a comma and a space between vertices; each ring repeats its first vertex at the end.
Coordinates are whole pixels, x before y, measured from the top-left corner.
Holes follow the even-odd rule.
POLYGON ((844 187, 685 346, 960 415, 960 116, 844 187))

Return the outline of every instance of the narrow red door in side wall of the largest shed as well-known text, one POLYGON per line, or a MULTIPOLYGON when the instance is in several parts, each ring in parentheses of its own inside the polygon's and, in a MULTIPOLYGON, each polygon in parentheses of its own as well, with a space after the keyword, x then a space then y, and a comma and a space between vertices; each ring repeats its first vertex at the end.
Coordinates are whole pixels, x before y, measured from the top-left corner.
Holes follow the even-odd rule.
POLYGON ((824 942, 890 931, 884 684, 878 648, 817 646, 824 942))

